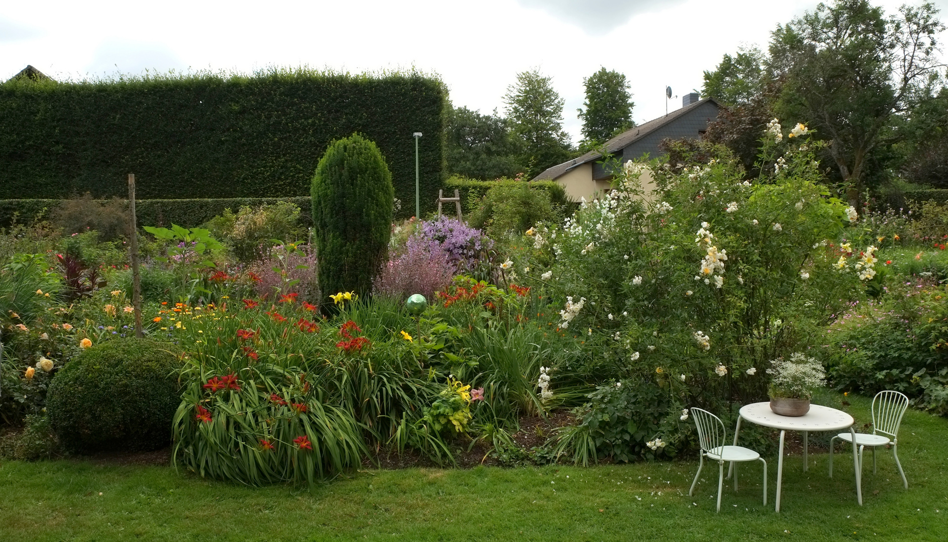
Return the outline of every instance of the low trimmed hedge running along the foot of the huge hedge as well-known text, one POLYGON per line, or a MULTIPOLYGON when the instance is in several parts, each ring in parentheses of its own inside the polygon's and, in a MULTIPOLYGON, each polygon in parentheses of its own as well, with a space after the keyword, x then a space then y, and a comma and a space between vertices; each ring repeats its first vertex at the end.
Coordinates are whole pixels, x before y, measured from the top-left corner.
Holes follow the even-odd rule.
MULTIPOLYGON (((136 200, 135 211, 138 226, 178 226, 194 227, 208 222, 224 212, 224 209, 237 212, 237 209, 249 206, 260 207, 288 201, 300 208, 300 225, 312 226, 313 213, 310 211, 309 196, 292 198, 221 198, 221 199, 182 199, 182 200, 136 200)), ((17 222, 30 224, 35 220, 48 219, 53 209, 63 200, 0 200, 0 227, 9 227, 13 214, 19 213, 17 222)))

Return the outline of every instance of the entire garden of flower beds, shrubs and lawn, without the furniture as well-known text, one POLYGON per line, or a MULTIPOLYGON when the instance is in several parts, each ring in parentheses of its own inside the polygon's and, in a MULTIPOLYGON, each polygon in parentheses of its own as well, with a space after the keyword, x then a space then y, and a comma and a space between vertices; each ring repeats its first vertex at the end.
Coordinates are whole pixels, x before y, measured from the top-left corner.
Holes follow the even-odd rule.
MULTIPOLYGON (((774 119, 754 172, 709 142, 607 156, 593 201, 488 183, 463 222, 398 218, 356 134, 319 159, 311 217, 276 201, 133 229, 127 202, 84 197, 14 221, 0 533, 940 539, 948 209, 851 207, 811 135, 774 119), (851 446, 813 432, 806 465, 787 442, 779 514, 757 467, 717 515, 717 464, 689 496, 693 408, 731 438, 741 406, 804 399, 865 433, 885 389, 910 403, 907 491, 880 449, 860 506, 851 446)), ((783 454, 770 427, 740 444, 783 454)))

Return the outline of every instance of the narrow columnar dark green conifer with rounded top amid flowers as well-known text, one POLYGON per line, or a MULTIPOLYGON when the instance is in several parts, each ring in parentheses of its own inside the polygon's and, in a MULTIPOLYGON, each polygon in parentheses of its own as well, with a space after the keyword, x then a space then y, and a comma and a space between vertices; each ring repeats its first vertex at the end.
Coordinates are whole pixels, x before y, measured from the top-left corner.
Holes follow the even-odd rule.
POLYGON ((354 134, 335 141, 313 175, 313 231, 319 290, 367 296, 392 235, 392 172, 375 143, 354 134))

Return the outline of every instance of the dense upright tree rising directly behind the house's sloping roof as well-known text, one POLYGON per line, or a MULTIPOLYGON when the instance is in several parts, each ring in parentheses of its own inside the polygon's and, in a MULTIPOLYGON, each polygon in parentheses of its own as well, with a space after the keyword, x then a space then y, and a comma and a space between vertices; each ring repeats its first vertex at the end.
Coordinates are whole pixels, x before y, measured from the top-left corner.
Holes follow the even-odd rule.
POLYGON ((583 78, 586 86, 585 111, 577 109, 583 121, 586 143, 603 143, 612 135, 635 126, 629 81, 617 71, 600 67, 592 76, 583 78))

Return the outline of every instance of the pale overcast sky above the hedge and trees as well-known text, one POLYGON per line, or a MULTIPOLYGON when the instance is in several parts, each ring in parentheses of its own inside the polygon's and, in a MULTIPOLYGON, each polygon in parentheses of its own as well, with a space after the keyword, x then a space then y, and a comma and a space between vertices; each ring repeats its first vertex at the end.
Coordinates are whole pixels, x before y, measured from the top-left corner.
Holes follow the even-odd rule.
MULTIPOLYGON (((898 0, 875 0, 886 11, 898 0)), ((918 2, 911 2, 917 4, 918 2)), ((948 0, 939 0, 948 8, 948 0)), ((553 76, 565 127, 579 139, 583 78, 600 66, 629 78, 633 117, 665 114, 739 45, 766 45, 779 23, 813 9, 783 0, 398 0, 327 2, 7 2, 0 79, 32 64, 55 79, 145 69, 309 65, 351 72, 437 73, 455 105, 502 111, 517 72, 553 76)), ((948 14, 942 13, 948 20, 948 14)))

